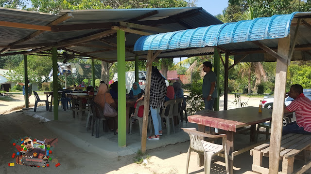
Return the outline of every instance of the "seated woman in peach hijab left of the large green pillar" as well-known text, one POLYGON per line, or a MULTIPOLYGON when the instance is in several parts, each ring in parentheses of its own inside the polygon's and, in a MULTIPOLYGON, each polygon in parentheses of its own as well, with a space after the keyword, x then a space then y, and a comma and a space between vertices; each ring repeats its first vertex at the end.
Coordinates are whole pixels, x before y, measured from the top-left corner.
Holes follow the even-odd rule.
MULTIPOLYGON (((106 84, 102 83, 98 88, 98 93, 94 98, 94 102, 101 106, 104 110, 105 103, 108 103, 111 107, 117 108, 117 103, 112 99, 108 92, 108 87, 106 84)), ((108 120, 107 122, 109 130, 113 130, 113 122, 108 120)), ((115 116, 115 128, 118 128, 118 116, 115 116)), ((117 131, 118 132, 118 131, 117 131)))

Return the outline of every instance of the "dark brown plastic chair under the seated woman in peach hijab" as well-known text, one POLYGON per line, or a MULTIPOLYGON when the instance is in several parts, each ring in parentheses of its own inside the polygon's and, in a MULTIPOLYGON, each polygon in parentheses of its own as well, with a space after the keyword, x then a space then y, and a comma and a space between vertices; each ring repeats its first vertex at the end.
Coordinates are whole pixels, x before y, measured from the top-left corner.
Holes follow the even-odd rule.
MULTIPOLYGON (((92 136, 94 135, 94 128, 96 126, 96 130, 95 130, 95 137, 98 138, 99 137, 99 125, 100 125, 100 121, 103 121, 103 129, 105 132, 108 131, 108 125, 107 125, 107 120, 111 119, 113 121, 113 125, 115 125, 115 120, 114 117, 105 117, 102 108, 96 104, 93 101, 89 102, 90 107, 92 109, 93 112, 93 126, 92 126, 92 136), (94 125, 94 123, 96 122, 96 125, 94 125)), ((113 128, 114 130, 114 134, 116 135, 116 128, 113 128)))

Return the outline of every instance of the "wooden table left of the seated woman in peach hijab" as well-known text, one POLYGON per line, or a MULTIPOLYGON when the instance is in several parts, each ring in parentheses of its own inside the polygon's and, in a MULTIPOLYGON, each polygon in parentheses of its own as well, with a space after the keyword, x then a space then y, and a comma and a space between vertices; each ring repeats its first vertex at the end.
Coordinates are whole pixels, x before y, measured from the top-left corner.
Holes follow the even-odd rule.
POLYGON ((88 109, 86 109, 84 107, 84 105, 82 104, 82 100, 83 99, 88 100, 90 98, 93 98, 96 94, 97 94, 97 92, 94 92, 94 95, 88 95, 87 93, 69 93, 69 94, 67 94, 67 97, 71 98, 71 102, 72 102, 72 106, 71 106, 72 117, 75 118, 76 117, 75 112, 78 112, 78 116, 79 116, 80 120, 84 120, 85 118, 83 117, 83 111, 88 111, 88 109))

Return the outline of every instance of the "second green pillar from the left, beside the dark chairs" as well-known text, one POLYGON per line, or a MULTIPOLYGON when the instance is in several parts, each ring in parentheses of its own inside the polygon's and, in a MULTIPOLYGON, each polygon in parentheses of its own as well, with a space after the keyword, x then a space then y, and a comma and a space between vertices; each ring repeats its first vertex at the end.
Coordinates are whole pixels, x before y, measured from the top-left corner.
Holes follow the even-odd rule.
MULTIPOLYGON (((58 120, 58 79, 57 79, 57 48, 52 48, 52 65, 53 65, 53 114, 54 120, 58 120)), ((52 101, 51 101, 52 102, 52 101)))

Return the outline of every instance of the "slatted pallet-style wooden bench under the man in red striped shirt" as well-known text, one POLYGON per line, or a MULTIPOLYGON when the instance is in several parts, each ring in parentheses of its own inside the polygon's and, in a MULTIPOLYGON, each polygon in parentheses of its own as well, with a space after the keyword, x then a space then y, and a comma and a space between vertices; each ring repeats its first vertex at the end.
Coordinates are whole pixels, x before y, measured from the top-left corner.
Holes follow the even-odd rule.
MULTIPOLYGON (((269 151, 270 142, 250 150, 250 154, 253 156, 252 170, 254 173, 269 173, 268 168, 262 167, 262 157, 269 157, 269 151)), ((282 172, 278 172, 278 174, 292 174, 295 156, 296 159, 299 159, 297 154, 301 151, 304 151, 305 165, 295 171, 294 174, 303 174, 311 167, 311 135, 290 133, 282 136, 279 158, 282 160, 282 172)))

